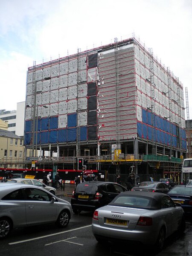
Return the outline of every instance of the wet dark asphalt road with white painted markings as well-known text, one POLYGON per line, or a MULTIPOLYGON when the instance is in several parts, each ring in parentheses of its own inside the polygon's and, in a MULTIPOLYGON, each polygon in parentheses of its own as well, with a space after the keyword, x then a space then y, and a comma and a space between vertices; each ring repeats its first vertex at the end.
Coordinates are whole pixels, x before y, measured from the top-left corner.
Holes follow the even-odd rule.
MULTIPOLYGON (((70 197, 66 197, 70 201, 70 197)), ((192 218, 187 218, 186 233, 174 234, 167 239, 165 248, 154 253, 151 247, 135 248, 130 245, 106 244, 96 242, 91 231, 92 214, 82 212, 73 214, 70 224, 60 229, 55 224, 13 230, 7 239, 0 241, 2 256, 191 256, 192 218), (144 251, 143 251, 144 250, 144 251)))

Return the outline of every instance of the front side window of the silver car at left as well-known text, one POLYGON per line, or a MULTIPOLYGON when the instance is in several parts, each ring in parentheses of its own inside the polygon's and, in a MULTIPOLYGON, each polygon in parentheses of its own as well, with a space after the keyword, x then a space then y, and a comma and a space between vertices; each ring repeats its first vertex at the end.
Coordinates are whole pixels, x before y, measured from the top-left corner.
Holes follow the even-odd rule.
POLYGON ((22 189, 26 200, 32 201, 51 201, 52 196, 41 189, 26 188, 22 189))

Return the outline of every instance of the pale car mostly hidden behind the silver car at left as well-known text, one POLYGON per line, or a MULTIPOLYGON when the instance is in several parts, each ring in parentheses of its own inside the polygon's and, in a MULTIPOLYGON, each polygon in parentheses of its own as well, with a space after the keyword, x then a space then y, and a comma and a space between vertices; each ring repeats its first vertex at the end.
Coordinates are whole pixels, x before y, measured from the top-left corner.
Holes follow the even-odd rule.
POLYGON ((43 182, 39 181, 39 180, 35 180, 35 179, 28 179, 28 178, 16 178, 16 179, 6 179, 5 182, 15 182, 15 183, 24 183, 24 184, 29 184, 29 185, 34 185, 34 186, 39 186, 41 188, 46 189, 47 191, 49 191, 50 193, 52 193, 53 195, 56 195, 56 189, 54 187, 51 186, 47 186, 45 185, 43 182))

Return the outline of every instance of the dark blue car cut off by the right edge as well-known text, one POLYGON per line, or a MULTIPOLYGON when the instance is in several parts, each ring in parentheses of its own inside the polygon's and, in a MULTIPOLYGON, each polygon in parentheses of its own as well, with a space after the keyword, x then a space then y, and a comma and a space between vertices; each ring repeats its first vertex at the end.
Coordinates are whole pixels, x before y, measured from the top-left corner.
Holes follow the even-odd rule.
POLYGON ((192 185, 177 185, 167 194, 174 202, 181 204, 185 213, 192 214, 192 185))

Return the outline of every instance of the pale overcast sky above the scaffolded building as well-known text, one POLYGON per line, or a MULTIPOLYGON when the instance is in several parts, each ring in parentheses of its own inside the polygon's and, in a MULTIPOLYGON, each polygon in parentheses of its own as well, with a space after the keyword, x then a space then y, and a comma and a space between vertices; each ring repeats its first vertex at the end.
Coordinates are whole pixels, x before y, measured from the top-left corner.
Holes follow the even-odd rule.
POLYGON ((27 68, 140 38, 188 89, 192 119, 192 0, 0 0, 0 109, 25 101, 27 68))

